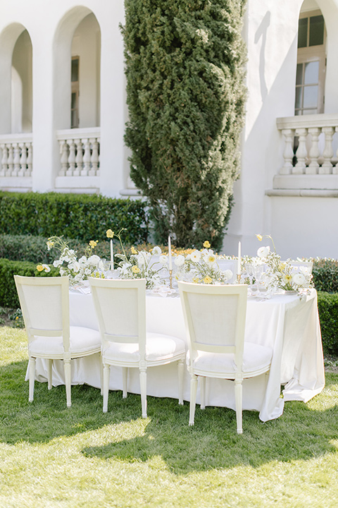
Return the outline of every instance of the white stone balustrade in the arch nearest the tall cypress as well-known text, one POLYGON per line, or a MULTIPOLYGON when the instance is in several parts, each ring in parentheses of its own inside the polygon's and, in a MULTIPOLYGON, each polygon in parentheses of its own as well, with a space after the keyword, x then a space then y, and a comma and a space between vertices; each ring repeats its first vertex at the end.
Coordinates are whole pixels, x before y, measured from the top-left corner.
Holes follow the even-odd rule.
POLYGON ((100 128, 57 131, 61 169, 58 176, 100 175, 100 128))

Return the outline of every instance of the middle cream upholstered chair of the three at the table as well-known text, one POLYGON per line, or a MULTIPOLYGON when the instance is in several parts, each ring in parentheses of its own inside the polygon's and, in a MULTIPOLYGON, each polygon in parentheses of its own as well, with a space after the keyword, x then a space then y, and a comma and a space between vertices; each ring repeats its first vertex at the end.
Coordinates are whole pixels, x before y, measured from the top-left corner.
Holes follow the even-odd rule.
POLYGON ((110 366, 122 367, 123 397, 127 397, 127 369, 139 369, 142 416, 146 417, 146 369, 178 362, 179 403, 183 404, 184 341, 146 332, 145 279, 91 278, 90 286, 102 339, 104 413, 108 410, 110 366))

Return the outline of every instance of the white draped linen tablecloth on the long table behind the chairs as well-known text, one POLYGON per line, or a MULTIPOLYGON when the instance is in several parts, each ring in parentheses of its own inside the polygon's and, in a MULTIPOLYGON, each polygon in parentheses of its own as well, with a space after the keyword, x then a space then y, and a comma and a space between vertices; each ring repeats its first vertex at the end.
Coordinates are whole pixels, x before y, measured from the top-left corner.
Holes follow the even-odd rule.
MULTIPOLYGON (((98 329, 91 294, 70 291, 70 325, 98 329)), ((146 296, 146 328, 149 332, 175 335, 187 342, 179 297, 146 296)), ((308 401, 325 385, 323 349, 320 337, 317 294, 276 295, 270 300, 248 298, 245 340, 270 346, 270 373, 243 382, 243 409, 259 411, 261 421, 278 418, 284 401, 308 401), (281 385, 284 385, 281 396, 281 385)), ((72 361, 72 384, 100 387, 99 356, 72 361)), ((27 377, 26 377, 27 379, 27 377)), ((46 362, 37 359, 36 380, 46 381, 46 362)), ((184 373, 184 400, 189 401, 190 377, 184 373)), ((64 384, 63 363, 53 362, 53 384, 64 384)), ((111 367, 109 388, 122 389, 120 368, 111 367)), ((139 371, 130 368, 128 392, 139 393, 139 371)), ((175 364, 147 370, 147 394, 178 397, 175 364)), ((199 403, 199 391, 197 392, 199 403)), ((206 380, 206 405, 234 409, 234 384, 229 380, 206 380)))

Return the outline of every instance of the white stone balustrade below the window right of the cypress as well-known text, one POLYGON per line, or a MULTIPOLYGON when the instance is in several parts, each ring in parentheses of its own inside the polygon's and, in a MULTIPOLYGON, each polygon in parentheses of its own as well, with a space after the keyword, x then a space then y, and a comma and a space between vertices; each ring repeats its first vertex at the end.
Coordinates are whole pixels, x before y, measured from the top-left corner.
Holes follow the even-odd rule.
POLYGON ((280 175, 338 174, 338 115, 316 114, 277 119, 284 138, 280 175))

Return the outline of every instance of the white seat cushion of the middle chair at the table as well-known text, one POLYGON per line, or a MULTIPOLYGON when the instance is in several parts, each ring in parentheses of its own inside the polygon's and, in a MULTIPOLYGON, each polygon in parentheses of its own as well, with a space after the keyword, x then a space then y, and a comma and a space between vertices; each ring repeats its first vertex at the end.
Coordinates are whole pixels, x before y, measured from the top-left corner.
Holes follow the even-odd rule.
MULTIPOLYGON (((180 353, 185 354, 185 344, 181 339, 171 335, 146 334, 146 361, 170 360, 180 353)), ((139 344, 110 342, 109 347, 102 351, 102 356, 108 361, 139 363, 139 344)))

